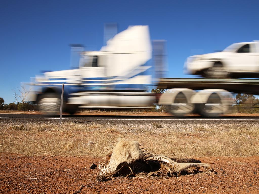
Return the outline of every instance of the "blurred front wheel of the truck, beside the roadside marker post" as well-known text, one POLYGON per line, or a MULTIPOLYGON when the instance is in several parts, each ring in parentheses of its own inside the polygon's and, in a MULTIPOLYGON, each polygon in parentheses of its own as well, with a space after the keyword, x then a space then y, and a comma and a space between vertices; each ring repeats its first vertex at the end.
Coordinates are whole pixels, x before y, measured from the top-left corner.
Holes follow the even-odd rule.
POLYGON ((40 96, 39 109, 48 116, 54 116, 60 112, 61 99, 55 93, 45 93, 40 96))

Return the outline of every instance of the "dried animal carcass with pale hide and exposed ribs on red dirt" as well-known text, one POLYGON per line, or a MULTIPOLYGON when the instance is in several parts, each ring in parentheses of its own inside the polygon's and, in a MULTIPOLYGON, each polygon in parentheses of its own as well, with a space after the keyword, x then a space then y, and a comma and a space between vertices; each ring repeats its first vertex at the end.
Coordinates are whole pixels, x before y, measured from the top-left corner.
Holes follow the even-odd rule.
MULTIPOLYGON (((207 171, 214 171, 206 163, 201 163, 195 159, 175 159, 164 155, 145 153, 146 148, 140 148, 137 141, 119 138, 118 143, 112 150, 110 159, 106 162, 99 162, 100 175, 98 180, 120 174, 137 177, 148 176, 172 176, 179 175, 181 171, 186 171, 191 167, 204 167, 207 171)), ((109 155, 109 154, 108 154, 109 155)))

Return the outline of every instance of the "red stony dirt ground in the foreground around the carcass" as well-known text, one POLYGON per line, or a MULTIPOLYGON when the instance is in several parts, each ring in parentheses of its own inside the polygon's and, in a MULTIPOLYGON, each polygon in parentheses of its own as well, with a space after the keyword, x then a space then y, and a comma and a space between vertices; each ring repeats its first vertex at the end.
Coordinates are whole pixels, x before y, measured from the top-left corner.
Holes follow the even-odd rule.
POLYGON ((89 167, 100 158, 2 153, 0 193, 259 193, 259 156, 197 159, 210 163, 218 174, 98 182, 98 168, 89 167))

